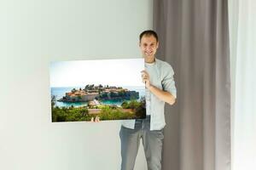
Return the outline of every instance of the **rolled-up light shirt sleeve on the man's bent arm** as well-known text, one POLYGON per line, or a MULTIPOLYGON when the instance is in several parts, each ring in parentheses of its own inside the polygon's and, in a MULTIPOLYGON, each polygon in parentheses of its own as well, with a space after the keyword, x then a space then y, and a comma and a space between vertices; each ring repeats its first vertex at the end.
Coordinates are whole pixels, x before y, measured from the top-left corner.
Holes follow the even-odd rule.
POLYGON ((175 98, 177 98, 177 89, 175 87, 175 82, 174 82, 174 71, 172 69, 171 65, 165 65, 165 69, 164 69, 164 77, 162 80, 162 86, 163 89, 166 92, 171 93, 175 98))

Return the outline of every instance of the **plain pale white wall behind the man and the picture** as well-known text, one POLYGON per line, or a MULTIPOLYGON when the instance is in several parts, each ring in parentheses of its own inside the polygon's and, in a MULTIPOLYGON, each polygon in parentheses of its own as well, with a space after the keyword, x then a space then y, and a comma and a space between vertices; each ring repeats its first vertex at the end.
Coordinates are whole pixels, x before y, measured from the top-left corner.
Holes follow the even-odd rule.
MULTIPOLYGON (((119 122, 51 122, 49 62, 135 58, 153 1, 0 2, 0 169, 119 169, 119 122)), ((136 169, 146 169, 143 148, 136 169)))

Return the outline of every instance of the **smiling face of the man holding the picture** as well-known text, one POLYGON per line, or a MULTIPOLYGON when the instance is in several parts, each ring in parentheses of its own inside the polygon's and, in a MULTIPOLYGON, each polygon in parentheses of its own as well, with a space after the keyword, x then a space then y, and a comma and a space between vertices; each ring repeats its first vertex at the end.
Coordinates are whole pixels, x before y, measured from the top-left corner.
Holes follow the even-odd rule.
POLYGON ((159 43, 154 36, 143 36, 140 42, 140 48, 143 53, 143 57, 154 57, 159 43))

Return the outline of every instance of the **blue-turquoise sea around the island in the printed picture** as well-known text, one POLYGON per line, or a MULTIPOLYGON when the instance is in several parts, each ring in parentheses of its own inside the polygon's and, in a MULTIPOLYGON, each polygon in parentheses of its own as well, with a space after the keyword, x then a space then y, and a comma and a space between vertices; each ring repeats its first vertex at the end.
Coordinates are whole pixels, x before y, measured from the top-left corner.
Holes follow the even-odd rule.
MULTIPOLYGON (((50 88, 51 96, 55 95, 56 99, 61 99, 67 92, 70 92, 73 88, 79 89, 81 87, 68 87, 68 88, 50 88)), ((132 91, 137 91, 139 93, 139 97, 142 98, 145 96, 145 88, 144 87, 122 87, 127 88, 132 91)), ((102 100, 100 101, 103 105, 121 105, 123 100, 102 100)), ((56 106, 59 107, 70 107, 73 105, 74 107, 87 105, 87 102, 60 102, 56 101, 56 106)))

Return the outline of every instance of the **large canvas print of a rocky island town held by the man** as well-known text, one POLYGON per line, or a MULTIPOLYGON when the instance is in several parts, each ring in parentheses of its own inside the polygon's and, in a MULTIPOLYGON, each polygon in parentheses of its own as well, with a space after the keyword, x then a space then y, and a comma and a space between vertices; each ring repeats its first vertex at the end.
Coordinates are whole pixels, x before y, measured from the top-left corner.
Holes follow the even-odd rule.
POLYGON ((51 62, 52 122, 145 118, 143 70, 143 59, 51 62))

